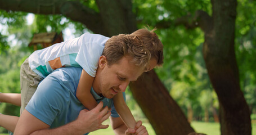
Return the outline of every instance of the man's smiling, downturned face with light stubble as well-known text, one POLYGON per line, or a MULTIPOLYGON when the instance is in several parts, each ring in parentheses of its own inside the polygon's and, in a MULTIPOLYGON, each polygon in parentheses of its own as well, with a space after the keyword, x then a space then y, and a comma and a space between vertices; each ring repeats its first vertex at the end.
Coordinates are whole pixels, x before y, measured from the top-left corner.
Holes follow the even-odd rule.
POLYGON ((118 92, 124 92, 129 82, 137 80, 145 71, 123 57, 116 64, 107 65, 106 57, 101 56, 98 70, 93 82, 93 89, 98 95, 113 98, 118 92))

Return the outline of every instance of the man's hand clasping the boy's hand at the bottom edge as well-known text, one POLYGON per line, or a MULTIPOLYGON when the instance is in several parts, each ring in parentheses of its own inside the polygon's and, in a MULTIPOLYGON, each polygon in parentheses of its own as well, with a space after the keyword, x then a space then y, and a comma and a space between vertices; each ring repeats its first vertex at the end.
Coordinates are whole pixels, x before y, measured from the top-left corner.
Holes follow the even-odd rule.
POLYGON ((132 135, 132 134, 136 134, 136 135, 149 135, 149 133, 147 133, 147 129, 145 126, 142 125, 141 121, 138 121, 136 123, 136 130, 128 128, 125 131, 126 135, 132 135))

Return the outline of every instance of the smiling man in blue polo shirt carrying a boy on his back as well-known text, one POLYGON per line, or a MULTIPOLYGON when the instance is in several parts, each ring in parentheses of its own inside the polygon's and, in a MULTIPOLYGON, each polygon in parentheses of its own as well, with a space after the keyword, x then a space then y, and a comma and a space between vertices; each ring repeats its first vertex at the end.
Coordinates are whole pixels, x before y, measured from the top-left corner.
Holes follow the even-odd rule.
MULTIPOLYGON (((140 54, 133 56, 127 53, 134 51, 134 48, 122 50, 125 49, 128 50, 123 52, 123 56, 113 62, 107 59, 107 54, 102 53, 91 93, 98 102, 103 101, 104 106, 111 107, 110 120, 115 134, 147 134, 141 122, 137 122, 136 131, 127 129, 116 114, 111 100, 116 93, 125 91, 129 82, 140 77, 145 71, 145 66, 138 64, 149 59, 143 50, 137 50, 140 54)), ((147 69, 154 68, 156 64, 154 62, 147 69)), ((80 68, 69 67, 57 69, 48 75, 39 84, 20 116, 14 134, 85 134, 107 128, 107 125, 101 125, 110 115, 107 113, 107 107, 100 111, 100 103, 95 109, 87 112, 75 97, 81 71, 80 68)))

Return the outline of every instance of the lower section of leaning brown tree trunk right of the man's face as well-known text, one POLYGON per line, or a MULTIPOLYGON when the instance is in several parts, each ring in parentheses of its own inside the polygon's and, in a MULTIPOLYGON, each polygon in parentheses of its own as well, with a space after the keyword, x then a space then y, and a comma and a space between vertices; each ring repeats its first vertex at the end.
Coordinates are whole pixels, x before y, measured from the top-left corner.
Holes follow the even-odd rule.
POLYGON ((194 132, 155 71, 144 73, 130 84, 130 88, 156 134, 187 135, 194 132))

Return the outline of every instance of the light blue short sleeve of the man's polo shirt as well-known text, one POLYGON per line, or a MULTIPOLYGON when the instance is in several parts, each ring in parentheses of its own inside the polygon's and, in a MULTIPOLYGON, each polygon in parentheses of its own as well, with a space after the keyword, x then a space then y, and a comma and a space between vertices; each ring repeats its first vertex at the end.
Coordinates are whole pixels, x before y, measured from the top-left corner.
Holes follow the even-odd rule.
POLYGON ((66 105, 65 99, 69 99, 64 91, 65 88, 55 78, 48 76, 39 84, 25 109, 42 122, 51 125, 66 105))

